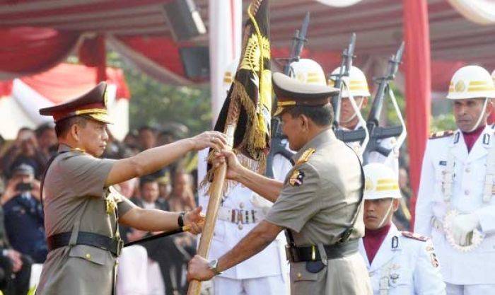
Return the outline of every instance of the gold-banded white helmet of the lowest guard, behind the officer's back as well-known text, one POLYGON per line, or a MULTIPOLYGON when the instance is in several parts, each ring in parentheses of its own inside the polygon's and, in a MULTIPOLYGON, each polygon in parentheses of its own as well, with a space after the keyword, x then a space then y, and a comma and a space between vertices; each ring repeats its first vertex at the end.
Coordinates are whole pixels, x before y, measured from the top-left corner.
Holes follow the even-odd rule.
POLYGON ((400 199, 397 174, 383 163, 369 163, 364 170, 364 199, 400 199))

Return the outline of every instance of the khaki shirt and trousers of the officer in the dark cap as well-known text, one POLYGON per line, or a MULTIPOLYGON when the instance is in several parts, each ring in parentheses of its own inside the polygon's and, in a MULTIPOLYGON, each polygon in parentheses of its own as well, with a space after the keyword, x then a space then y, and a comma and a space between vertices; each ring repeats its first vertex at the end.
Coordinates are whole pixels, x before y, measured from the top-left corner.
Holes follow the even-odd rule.
MULTIPOLYGON (((78 231, 115 237, 120 216, 135 207, 125 197, 110 194, 105 180, 114 160, 95 158, 61 145, 45 175, 44 210, 47 236, 78 231), (107 199, 114 198, 115 208, 107 199), (107 213, 110 212, 110 213, 107 213)), ((68 245, 48 253, 38 295, 111 294, 116 258, 110 251, 88 245, 68 245)))

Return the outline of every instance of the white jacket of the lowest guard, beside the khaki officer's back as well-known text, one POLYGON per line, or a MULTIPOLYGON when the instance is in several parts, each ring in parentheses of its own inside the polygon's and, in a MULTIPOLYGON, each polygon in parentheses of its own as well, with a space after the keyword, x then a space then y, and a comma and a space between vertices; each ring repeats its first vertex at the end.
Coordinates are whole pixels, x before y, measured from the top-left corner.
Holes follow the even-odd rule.
POLYGON ((403 236, 394 224, 370 265, 363 240, 359 241, 374 295, 445 294, 431 241, 403 236))

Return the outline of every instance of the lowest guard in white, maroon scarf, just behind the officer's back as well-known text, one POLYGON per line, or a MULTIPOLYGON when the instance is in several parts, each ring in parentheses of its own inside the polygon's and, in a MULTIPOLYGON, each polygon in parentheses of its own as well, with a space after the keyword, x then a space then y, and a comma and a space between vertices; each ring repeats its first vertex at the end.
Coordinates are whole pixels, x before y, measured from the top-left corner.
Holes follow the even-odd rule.
POLYGON ((445 295, 431 241, 399 231, 392 214, 401 198, 397 175, 382 163, 363 168, 364 238, 359 243, 375 295, 445 295))

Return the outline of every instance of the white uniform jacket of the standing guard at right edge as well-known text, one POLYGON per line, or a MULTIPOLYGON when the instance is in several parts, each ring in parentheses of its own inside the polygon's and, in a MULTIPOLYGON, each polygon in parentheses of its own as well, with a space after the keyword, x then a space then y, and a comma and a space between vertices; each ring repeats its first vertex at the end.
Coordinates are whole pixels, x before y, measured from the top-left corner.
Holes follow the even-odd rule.
POLYGON ((494 149, 494 126, 485 127, 469 154, 459 130, 426 144, 414 230, 431 236, 443 279, 450 284, 495 284, 495 178, 487 181, 487 166, 495 165, 487 163, 488 155, 494 149), (481 245, 464 253, 448 243, 441 224, 449 209, 479 216, 485 235, 481 245))

